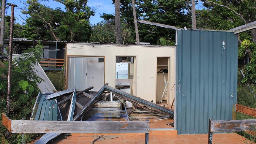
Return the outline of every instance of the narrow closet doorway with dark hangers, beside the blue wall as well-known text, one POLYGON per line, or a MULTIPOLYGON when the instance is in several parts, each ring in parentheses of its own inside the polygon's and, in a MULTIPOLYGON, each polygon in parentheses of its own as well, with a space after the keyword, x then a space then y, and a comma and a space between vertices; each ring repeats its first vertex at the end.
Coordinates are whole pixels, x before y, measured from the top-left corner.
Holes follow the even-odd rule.
POLYGON ((159 104, 168 104, 169 96, 169 61, 168 57, 157 57, 156 100, 159 104))

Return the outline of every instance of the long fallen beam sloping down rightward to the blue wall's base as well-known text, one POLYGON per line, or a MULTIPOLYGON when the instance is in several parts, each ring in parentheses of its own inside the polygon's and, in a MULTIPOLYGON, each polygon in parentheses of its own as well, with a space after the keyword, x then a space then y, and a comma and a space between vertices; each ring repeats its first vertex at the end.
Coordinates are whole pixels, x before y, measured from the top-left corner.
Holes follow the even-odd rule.
POLYGON ((121 97, 122 99, 128 100, 129 102, 132 102, 133 104, 136 104, 138 106, 143 105, 147 108, 151 108, 153 111, 155 111, 157 113, 162 113, 162 114, 174 117, 174 110, 163 107, 161 105, 157 105, 153 102, 149 102, 145 99, 141 99, 140 97, 133 96, 124 91, 120 91, 116 88, 113 88, 111 86, 105 86, 105 91, 112 92, 113 94, 116 94, 117 96, 121 97))

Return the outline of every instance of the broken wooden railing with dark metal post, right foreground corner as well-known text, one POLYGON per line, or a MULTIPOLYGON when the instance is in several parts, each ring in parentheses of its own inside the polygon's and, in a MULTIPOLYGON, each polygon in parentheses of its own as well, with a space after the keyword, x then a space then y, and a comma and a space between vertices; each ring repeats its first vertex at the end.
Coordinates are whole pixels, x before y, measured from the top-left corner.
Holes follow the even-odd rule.
MULTIPOLYGON (((256 117, 256 109, 236 104, 236 112, 256 117)), ((246 120, 212 120, 209 119, 208 144, 212 144, 213 132, 245 131, 255 135, 256 119, 246 120)))

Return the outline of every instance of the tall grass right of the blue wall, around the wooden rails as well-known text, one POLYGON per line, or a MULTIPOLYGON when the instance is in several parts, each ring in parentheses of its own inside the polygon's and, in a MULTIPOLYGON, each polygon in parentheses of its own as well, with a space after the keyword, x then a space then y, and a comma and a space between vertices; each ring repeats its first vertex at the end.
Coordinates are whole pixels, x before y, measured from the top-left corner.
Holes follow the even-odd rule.
MULTIPOLYGON (((246 107, 251 107, 256 109, 256 100, 254 98, 254 94, 252 94, 251 90, 255 93, 256 85, 253 83, 242 83, 243 76, 241 75, 240 71, 238 71, 237 77, 237 104, 244 105, 246 107), (250 88, 248 86, 250 85, 250 88)), ((255 117, 245 115, 243 113, 237 113, 236 119, 256 119, 255 117)), ((256 142, 255 135, 248 134, 247 132, 236 132, 241 136, 247 138, 248 140, 256 142)))

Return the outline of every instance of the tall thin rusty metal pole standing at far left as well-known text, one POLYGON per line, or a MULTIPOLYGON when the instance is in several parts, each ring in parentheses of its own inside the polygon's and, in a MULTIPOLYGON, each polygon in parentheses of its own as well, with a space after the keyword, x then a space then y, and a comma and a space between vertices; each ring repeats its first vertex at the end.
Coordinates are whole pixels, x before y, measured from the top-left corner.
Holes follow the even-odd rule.
POLYGON ((11 21, 10 21, 10 39, 9 39, 9 66, 8 66, 8 77, 7 77, 7 113, 10 117, 10 103, 11 103, 11 72, 12 72, 12 32, 13 32, 13 21, 14 21, 14 7, 15 4, 9 5, 11 7, 11 21))

